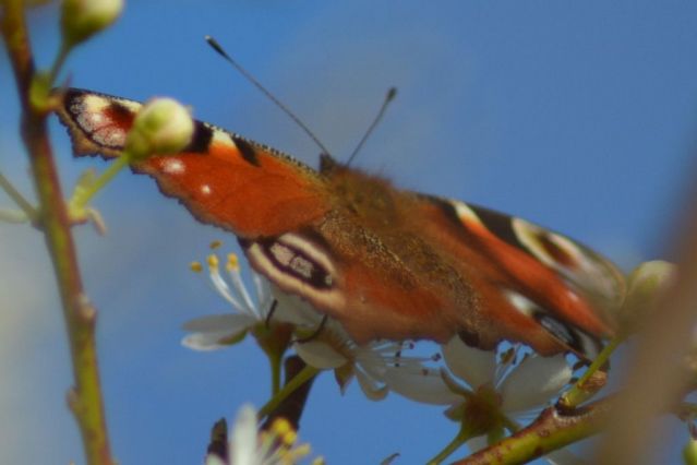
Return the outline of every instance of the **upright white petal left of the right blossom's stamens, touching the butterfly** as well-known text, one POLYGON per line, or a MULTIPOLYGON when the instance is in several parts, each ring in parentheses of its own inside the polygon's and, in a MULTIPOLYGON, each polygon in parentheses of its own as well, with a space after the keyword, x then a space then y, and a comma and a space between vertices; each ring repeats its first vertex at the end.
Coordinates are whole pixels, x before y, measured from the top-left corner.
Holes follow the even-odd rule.
POLYGON ((445 363, 455 375, 461 378, 467 384, 477 388, 494 382, 496 371, 496 353, 470 347, 454 336, 443 346, 445 363))

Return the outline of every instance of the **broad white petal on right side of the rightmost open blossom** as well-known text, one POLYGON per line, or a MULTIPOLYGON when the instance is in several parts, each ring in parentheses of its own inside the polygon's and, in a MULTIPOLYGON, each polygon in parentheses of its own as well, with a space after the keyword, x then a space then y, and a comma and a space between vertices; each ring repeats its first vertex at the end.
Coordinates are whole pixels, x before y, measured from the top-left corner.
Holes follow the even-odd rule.
POLYGON ((563 355, 530 356, 501 383, 502 409, 514 414, 539 407, 555 397, 572 379, 563 355))

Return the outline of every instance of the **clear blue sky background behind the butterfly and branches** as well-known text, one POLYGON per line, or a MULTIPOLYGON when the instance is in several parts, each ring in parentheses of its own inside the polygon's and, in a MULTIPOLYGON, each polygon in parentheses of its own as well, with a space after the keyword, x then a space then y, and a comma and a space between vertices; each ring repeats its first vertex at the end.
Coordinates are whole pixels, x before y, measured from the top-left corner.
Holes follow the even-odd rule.
MULTIPOLYGON (((32 14, 46 65, 56 10, 32 14)), ((356 165, 399 186, 514 213, 624 267, 663 257, 685 207, 697 134, 697 3, 688 1, 133 1, 71 57, 75 86, 134 99, 173 96, 197 118, 313 166, 319 148, 203 43, 214 35, 346 158, 387 87, 399 95, 356 165)), ((0 59, 0 170, 24 191, 17 106, 0 59)), ((51 126, 67 190, 96 160, 73 160, 51 126)), ((0 195, 0 205, 10 201, 0 195)), ((75 236, 99 309, 99 355, 121 463, 199 463, 208 428, 261 405, 267 368, 249 343, 180 346, 180 325, 225 311, 188 263, 235 240, 196 224, 145 178, 120 176, 95 201, 107 237, 75 236)), ((40 236, 0 224, 0 462, 81 461, 64 406, 70 360, 40 236), (29 441, 31 438, 31 441, 29 441), (27 444, 31 448, 26 448, 27 444)), ((454 424, 398 396, 372 403, 317 382, 301 437, 331 463, 360 451, 419 463, 454 424)))

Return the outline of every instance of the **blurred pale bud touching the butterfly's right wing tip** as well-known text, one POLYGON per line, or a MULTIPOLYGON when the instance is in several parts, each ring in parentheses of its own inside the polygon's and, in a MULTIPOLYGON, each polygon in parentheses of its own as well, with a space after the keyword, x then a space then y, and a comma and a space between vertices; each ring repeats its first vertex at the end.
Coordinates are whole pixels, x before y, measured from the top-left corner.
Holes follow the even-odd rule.
POLYGON ((661 294, 670 286, 677 267, 662 260, 644 262, 627 278, 627 297, 622 308, 622 327, 626 333, 636 331, 646 313, 653 310, 661 294))

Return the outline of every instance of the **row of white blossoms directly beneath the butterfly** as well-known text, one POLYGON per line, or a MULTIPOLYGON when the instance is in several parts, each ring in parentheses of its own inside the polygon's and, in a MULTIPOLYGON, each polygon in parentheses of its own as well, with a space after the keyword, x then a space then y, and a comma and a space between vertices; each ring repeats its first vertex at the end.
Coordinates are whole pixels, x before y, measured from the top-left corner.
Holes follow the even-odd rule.
MULTIPOLYGON (((203 265, 195 263, 192 269, 202 271, 203 265)), ((500 436, 504 428, 515 428, 516 420, 539 412, 572 378, 562 355, 521 355, 517 346, 497 354, 469 347, 459 337, 445 344, 442 355, 413 355, 419 348, 408 342, 377 341, 359 346, 332 319, 315 331, 322 324, 320 313, 298 297, 274 289, 256 274, 252 274, 252 297, 235 254, 228 255, 225 275, 215 254, 208 257, 207 269, 213 287, 233 312, 188 322, 184 329, 192 333, 183 339, 187 347, 219 349, 269 321, 289 323, 297 334, 295 351, 311 367, 334 370, 343 390, 356 378, 371 400, 382 400, 392 391, 417 402, 447 406, 449 418, 473 426, 472 436, 500 436), (300 335, 313 332, 309 341, 300 342, 300 335)))

